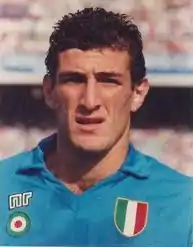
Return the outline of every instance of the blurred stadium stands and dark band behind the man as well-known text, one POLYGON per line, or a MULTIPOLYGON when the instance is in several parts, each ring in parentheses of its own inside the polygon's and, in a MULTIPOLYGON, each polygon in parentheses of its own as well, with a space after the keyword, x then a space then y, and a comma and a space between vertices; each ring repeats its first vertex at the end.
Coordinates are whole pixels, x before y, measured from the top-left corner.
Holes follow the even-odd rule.
POLYGON ((142 32, 151 90, 132 119, 135 146, 193 175, 193 0, 0 0, 0 159, 54 131, 41 89, 48 38, 89 6, 124 11, 142 32))

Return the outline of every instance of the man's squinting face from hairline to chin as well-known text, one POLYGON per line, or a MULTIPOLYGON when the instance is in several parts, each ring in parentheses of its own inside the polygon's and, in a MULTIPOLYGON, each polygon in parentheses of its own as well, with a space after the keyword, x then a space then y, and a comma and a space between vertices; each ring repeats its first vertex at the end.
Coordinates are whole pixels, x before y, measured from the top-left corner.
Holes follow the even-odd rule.
POLYGON ((131 87, 128 53, 70 49, 58 61, 55 86, 45 82, 44 92, 56 111, 59 131, 85 151, 112 148, 129 132, 131 110, 141 105, 134 103, 140 95, 131 87))

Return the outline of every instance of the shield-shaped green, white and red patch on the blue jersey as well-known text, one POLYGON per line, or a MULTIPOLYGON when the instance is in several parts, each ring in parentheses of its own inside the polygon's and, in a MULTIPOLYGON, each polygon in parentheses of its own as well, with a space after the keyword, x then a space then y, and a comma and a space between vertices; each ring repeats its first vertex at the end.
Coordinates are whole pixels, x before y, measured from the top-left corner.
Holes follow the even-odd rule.
POLYGON ((118 198, 114 220, 117 229, 127 237, 140 234, 146 227, 148 203, 118 198))

